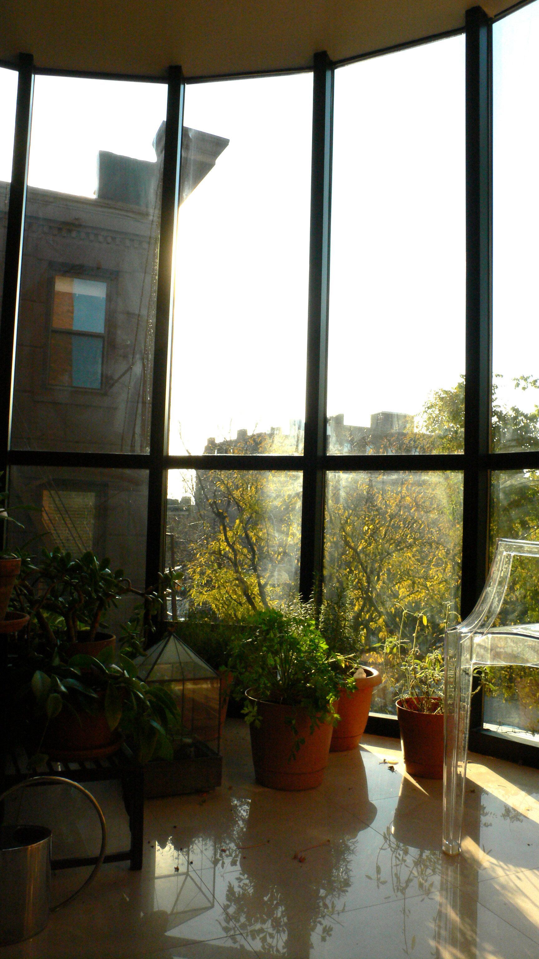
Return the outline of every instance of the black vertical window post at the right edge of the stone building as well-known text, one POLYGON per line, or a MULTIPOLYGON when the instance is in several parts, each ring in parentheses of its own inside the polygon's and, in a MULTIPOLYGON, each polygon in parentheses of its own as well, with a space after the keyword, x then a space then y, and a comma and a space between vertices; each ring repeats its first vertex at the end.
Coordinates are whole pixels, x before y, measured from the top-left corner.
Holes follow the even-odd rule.
POLYGON ((147 586, 156 582, 157 573, 163 568, 165 555, 167 478, 164 456, 168 453, 169 443, 170 363, 184 96, 185 81, 181 67, 171 66, 169 68, 167 123, 163 154, 161 225, 153 346, 151 458, 146 540, 147 586))

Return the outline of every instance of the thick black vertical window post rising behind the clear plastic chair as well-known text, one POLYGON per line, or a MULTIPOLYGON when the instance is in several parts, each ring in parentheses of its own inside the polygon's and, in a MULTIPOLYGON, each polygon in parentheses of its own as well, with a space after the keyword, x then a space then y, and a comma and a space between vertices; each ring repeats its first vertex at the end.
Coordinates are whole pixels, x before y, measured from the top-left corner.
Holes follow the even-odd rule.
POLYGON ((475 606, 488 564, 492 394, 492 27, 466 11, 466 386, 462 617, 475 606))

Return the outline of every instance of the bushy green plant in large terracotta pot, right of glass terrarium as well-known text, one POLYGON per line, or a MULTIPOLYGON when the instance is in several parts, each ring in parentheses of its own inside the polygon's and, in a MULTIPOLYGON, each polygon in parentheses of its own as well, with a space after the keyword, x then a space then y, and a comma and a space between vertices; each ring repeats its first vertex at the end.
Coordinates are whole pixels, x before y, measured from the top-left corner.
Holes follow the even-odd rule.
POLYGON ((297 609, 253 614, 231 666, 246 689, 257 783, 290 790, 319 785, 339 718, 340 682, 314 620, 297 609))

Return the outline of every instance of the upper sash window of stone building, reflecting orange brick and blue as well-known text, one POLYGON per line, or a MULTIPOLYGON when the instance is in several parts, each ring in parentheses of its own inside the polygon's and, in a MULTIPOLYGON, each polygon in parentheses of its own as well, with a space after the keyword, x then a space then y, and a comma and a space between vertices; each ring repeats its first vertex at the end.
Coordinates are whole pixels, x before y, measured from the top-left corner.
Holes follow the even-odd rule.
POLYGON ((101 389, 106 283, 55 276, 49 386, 101 389))

